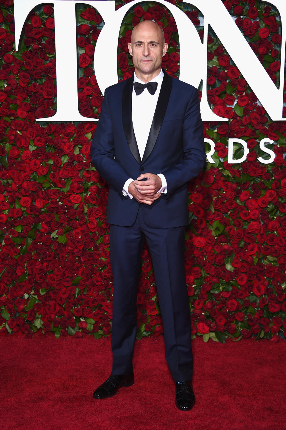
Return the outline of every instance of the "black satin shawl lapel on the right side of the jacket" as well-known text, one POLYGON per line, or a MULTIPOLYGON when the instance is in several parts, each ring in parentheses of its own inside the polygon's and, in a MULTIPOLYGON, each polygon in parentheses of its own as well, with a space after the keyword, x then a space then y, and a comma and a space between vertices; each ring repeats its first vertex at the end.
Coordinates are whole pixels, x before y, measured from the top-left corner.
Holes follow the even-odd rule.
POLYGON ((166 72, 164 72, 161 91, 158 97, 157 106, 155 109, 152 125, 150 128, 150 132, 149 132, 149 136, 148 136, 148 140, 147 140, 147 144, 145 147, 141 164, 147 160, 147 158, 149 157, 149 155, 151 154, 155 146, 155 143, 158 138, 158 134, 160 132, 162 122, 164 120, 164 116, 166 113, 171 89, 172 89, 172 78, 166 72))

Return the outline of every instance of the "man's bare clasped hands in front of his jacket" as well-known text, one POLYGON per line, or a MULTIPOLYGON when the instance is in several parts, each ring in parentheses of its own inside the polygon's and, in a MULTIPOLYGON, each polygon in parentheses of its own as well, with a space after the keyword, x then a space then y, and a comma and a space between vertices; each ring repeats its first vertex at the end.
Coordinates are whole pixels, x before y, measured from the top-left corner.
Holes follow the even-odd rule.
POLYGON ((160 176, 154 175, 154 173, 143 173, 136 181, 129 184, 128 193, 139 203, 152 205, 152 203, 161 196, 161 193, 158 193, 161 187, 162 181, 160 176), (142 181, 141 179, 146 180, 142 181))

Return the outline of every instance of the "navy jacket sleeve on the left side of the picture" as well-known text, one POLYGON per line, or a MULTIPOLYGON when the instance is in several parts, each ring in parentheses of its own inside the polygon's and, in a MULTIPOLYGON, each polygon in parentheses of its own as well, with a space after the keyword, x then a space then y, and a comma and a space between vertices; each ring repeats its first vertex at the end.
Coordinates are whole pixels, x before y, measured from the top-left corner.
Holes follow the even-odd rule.
POLYGON ((108 92, 109 89, 106 88, 100 111, 100 120, 98 121, 94 138, 91 142, 91 163, 103 179, 119 194, 122 194, 123 186, 129 176, 114 158, 115 150, 108 92))

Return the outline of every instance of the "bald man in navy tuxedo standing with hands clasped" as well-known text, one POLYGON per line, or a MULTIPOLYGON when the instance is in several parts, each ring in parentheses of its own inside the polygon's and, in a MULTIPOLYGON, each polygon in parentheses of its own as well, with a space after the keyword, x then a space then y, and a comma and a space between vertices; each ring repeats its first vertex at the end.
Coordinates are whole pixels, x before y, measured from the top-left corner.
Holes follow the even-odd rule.
POLYGON ((198 91, 162 71, 167 43, 155 22, 134 27, 128 48, 134 76, 106 89, 91 143, 91 162, 110 184, 107 221, 114 280, 112 373, 93 397, 110 397, 134 384, 136 290, 147 240, 176 406, 189 410, 195 396, 184 231, 187 182, 206 159, 198 91))

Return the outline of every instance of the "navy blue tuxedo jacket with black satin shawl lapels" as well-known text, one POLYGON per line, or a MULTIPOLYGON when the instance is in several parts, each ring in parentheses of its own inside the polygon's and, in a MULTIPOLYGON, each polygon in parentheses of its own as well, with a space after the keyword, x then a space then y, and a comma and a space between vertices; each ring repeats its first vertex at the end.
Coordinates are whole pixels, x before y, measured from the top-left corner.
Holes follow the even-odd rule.
POLYGON ((141 160, 131 116, 133 80, 132 76, 106 89, 91 143, 91 163, 110 184, 107 221, 131 226, 139 203, 123 196, 125 182, 141 173, 163 173, 167 194, 152 205, 141 204, 144 221, 154 228, 187 225, 187 182, 198 175, 206 160, 198 91, 164 73, 141 160))

